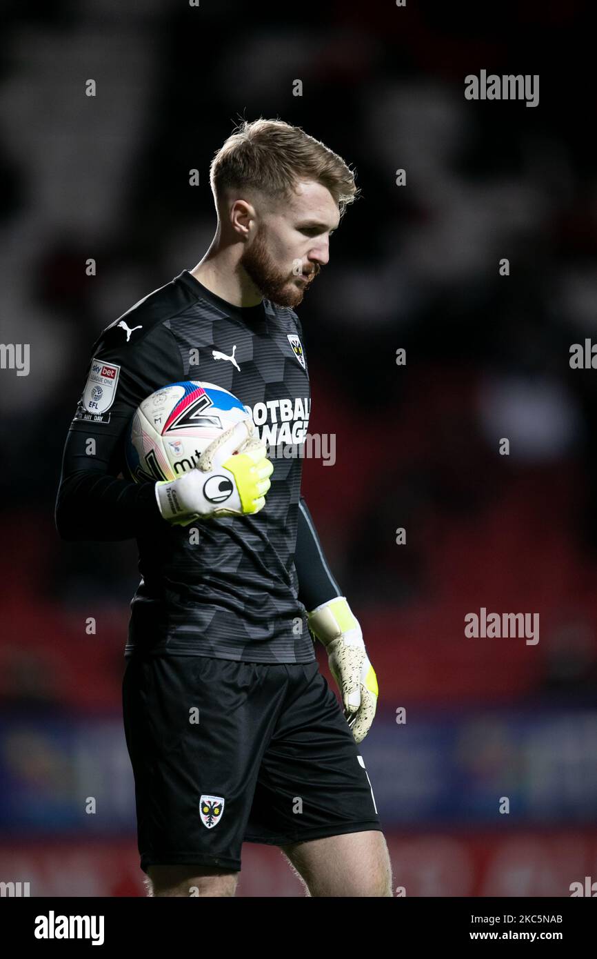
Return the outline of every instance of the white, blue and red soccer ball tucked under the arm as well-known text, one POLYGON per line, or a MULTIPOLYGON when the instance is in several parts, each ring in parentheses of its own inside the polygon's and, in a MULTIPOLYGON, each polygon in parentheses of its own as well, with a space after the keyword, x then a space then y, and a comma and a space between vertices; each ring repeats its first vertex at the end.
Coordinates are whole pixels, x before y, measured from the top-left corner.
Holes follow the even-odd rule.
MULTIPOLYGON (((227 389, 186 380, 151 393, 126 437, 126 466, 137 482, 177 479, 192 470, 216 437, 251 412, 227 389)), ((247 434, 248 437, 248 434, 247 434)))

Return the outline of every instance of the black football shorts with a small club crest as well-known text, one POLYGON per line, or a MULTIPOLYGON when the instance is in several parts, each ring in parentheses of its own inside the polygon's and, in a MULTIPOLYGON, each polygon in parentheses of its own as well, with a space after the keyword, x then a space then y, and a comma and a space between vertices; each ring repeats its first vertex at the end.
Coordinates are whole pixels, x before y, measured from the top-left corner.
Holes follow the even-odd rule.
POLYGON ((240 871, 243 842, 381 829, 365 764, 317 662, 133 655, 123 712, 146 873, 175 863, 240 871))

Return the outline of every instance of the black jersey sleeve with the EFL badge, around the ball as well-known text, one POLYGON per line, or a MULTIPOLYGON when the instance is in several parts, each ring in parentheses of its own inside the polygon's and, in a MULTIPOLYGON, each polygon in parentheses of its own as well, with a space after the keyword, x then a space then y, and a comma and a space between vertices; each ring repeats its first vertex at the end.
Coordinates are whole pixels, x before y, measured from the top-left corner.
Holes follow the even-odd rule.
POLYGON ((96 340, 86 381, 66 436, 55 520, 64 540, 126 540, 163 526, 152 482, 126 473, 130 420, 156 389, 185 378, 180 353, 163 323, 126 341, 116 324, 96 340))

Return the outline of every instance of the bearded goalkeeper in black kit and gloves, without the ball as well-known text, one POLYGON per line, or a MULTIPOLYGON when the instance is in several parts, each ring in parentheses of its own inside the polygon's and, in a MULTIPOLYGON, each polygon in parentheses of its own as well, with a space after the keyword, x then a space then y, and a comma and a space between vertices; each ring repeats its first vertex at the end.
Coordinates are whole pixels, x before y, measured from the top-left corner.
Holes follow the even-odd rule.
POLYGON ((93 347, 57 495, 63 539, 139 545, 123 710, 141 868, 152 896, 234 896, 242 842, 257 842, 283 851, 308 896, 391 896, 356 746, 376 675, 301 496, 302 459, 274 466, 264 439, 307 433, 293 308, 328 262, 355 177, 302 129, 259 119, 217 152, 211 185, 218 226, 203 259, 93 347), (255 426, 221 433, 178 479, 122 479, 136 409, 189 381, 234 394, 255 426), (215 503, 206 491, 222 472, 230 495, 215 503))

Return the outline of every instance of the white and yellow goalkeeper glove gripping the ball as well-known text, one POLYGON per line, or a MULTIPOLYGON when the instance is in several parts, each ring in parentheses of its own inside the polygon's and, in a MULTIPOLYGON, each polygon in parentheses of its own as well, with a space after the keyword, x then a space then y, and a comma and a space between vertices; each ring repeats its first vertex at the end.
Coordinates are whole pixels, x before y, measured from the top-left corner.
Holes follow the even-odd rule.
POLYGON ((242 420, 210 443, 194 469, 178 479, 156 482, 164 519, 189 526, 197 519, 259 513, 274 467, 254 433, 253 421, 242 420))

